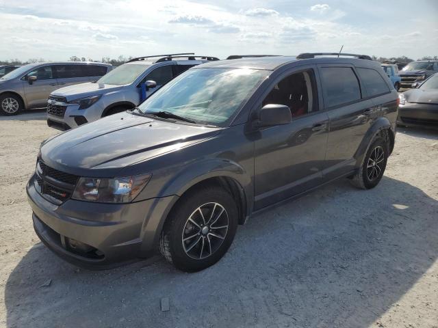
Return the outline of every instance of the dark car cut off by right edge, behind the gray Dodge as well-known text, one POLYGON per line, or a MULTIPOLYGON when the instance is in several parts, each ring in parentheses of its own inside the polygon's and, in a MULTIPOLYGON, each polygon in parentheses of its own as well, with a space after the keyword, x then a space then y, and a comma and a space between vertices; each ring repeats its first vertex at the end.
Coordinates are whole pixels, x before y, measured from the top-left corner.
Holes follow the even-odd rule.
POLYGON ((438 73, 400 94, 397 123, 404 126, 438 128, 438 73))

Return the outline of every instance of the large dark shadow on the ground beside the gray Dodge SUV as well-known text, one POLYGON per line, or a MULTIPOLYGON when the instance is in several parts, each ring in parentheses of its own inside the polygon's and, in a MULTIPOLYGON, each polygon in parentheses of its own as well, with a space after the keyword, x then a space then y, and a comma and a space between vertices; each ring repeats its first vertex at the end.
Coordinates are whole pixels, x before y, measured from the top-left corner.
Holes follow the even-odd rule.
POLYGON ((7 325, 368 327, 435 262, 436 213, 410 184, 340 180, 252 217, 218 264, 192 274, 162 259, 83 271, 38 244, 6 284, 7 325))

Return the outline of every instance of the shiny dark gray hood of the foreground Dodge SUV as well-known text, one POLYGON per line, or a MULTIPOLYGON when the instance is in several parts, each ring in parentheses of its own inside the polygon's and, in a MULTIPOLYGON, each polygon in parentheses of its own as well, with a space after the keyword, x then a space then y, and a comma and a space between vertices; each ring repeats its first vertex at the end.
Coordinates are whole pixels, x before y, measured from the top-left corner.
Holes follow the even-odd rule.
POLYGON ((220 130, 118 113, 44 141, 40 157, 62 172, 115 176, 127 165, 179 150, 220 130))

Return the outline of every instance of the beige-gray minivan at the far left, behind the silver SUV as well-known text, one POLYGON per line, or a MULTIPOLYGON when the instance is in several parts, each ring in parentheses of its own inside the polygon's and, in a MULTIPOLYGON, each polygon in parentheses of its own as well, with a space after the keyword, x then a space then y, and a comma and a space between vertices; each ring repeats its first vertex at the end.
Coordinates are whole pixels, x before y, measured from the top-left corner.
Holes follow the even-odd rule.
POLYGON ((24 109, 45 108, 49 94, 60 87, 96 81, 112 65, 86 61, 35 63, 0 78, 0 113, 16 115, 24 109))

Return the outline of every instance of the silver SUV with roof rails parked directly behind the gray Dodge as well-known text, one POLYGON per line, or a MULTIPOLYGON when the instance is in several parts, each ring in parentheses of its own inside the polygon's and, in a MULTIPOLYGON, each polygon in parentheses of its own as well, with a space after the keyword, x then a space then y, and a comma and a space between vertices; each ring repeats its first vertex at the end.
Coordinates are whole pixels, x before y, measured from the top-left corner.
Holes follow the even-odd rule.
POLYGON ((173 77, 211 60, 219 59, 193 53, 131 59, 96 82, 52 92, 47 103, 47 124, 65 131, 133 109, 173 77))

